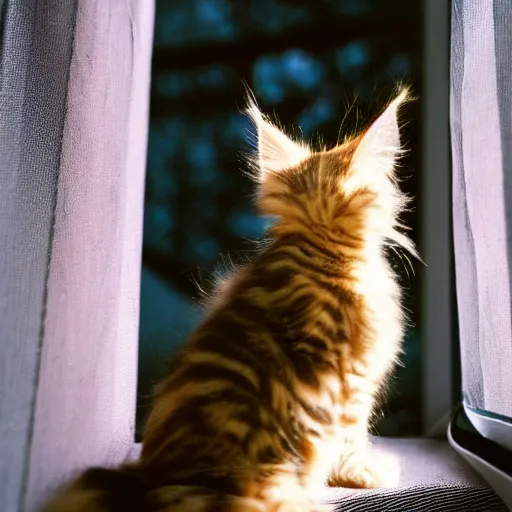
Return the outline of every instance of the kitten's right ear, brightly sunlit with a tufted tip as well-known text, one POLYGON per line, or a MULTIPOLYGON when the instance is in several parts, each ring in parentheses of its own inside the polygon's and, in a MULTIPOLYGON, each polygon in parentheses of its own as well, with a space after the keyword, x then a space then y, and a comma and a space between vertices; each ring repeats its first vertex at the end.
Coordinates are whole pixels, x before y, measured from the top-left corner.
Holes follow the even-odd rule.
POLYGON ((378 183, 379 178, 392 175, 402 153, 398 112, 408 99, 408 91, 403 89, 363 134, 350 166, 355 181, 361 185, 378 183))

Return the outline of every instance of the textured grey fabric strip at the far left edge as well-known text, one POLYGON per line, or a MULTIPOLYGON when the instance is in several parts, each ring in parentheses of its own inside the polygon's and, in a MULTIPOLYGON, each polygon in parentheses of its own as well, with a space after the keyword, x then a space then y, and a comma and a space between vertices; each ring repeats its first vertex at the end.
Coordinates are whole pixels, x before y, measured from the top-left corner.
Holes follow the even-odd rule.
POLYGON ((11 0, 0 27, 0 510, 22 509, 74 2, 11 0))

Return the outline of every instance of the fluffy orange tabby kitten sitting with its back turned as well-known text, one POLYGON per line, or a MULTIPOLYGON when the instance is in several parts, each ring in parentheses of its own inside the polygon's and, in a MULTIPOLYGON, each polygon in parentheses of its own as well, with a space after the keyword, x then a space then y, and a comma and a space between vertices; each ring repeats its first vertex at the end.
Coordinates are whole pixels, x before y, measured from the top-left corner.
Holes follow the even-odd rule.
POLYGON ((406 199, 393 174, 407 98, 320 152, 250 101, 268 241, 221 283, 175 358, 140 460, 87 471, 47 512, 317 512, 325 483, 388 483, 368 456, 368 425, 403 335, 384 248, 416 254, 398 229, 406 199))

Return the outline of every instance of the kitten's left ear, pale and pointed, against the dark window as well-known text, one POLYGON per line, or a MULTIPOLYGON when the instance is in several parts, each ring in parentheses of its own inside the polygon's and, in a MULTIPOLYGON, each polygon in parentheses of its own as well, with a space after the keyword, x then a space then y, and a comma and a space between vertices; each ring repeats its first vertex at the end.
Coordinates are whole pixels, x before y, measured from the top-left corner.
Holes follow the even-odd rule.
POLYGON ((253 121, 258 137, 255 163, 259 181, 265 181, 269 174, 295 167, 311 155, 307 146, 293 141, 270 123, 252 99, 248 101, 246 113, 253 121))

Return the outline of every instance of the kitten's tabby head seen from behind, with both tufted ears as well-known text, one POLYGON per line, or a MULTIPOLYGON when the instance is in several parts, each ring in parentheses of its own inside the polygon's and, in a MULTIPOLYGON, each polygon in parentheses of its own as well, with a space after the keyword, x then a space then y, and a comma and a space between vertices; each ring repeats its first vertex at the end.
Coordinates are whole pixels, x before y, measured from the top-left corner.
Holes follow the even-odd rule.
POLYGON ((321 151, 287 136, 249 101, 258 138, 257 205, 276 218, 275 234, 306 229, 347 247, 377 241, 415 252, 397 230, 407 203, 395 178, 402 153, 398 113, 408 98, 402 89, 367 130, 321 151))

